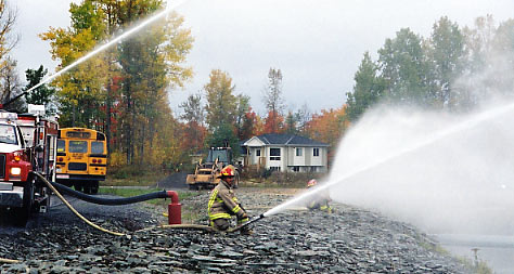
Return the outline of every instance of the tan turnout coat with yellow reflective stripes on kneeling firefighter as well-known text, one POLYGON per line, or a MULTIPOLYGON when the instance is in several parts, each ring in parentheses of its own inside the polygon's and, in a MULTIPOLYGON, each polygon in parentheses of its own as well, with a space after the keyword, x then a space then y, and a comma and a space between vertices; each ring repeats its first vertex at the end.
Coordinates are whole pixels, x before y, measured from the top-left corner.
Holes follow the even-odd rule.
POLYGON ((232 187, 223 180, 213 190, 208 205, 209 222, 216 219, 230 219, 232 216, 237 217, 239 223, 247 222, 249 219, 241 204, 237 201, 232 187))

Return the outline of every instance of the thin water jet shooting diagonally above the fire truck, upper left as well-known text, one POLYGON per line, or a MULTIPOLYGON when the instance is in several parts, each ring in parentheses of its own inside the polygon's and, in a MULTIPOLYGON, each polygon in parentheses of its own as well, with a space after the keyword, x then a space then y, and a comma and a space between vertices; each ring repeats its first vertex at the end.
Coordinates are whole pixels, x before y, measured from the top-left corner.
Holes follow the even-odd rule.
POLYGON ((164 17, 165 15, 167 15, 168 13, 170 13, 172 10, 177 9, 179 5, 181 5, 182 3, 184 3, 185 0, 182 0, 182 1, 177 1, 177 2, 174 2, 174 3, 170 3, 166 6, 165 10, 154 14, 153 16, 149 17, 147 19, 141 22, 139 25, 130 28, 129 30, 127 31, 124 31, 120 36, 117 36, 115 37, 114 39, 112 39, 111 41, 102 44, 101 47, 99 47, 98 49, 89 52, 88 54, 81 56, 80 58, 78 58, 77 61, 75 61, 74 63, 67 65, 66 67, 64 67, 63 69, 59 70, 57 73, 47 77, 46 79, 43 79, 42 81, 40 81, 38 84, 31 87, 30 89, 28 89, 27 91, 23 92, 22 94, 11 99, 10 101, 5 102, 3 105, 8 105, 12 102, 14 102, 15 100, 17 100, 18 97, 25 95, 25 94, 28 94, 30 91, 41 87, 42 84, 55 79, 56 77, 61 76, 62 74, 70 70, 72 68, 80 65, 81 63, 88 61, 89 58, 91 58, 92 56, 99 54, 100 52, 106 50, 107 48, 112 47, 113 44, 126 39, 127 37, 138 32, 139 30, 141 30, 142 28, 146 27, 147 25, 156 22, 157 19, 164 17))

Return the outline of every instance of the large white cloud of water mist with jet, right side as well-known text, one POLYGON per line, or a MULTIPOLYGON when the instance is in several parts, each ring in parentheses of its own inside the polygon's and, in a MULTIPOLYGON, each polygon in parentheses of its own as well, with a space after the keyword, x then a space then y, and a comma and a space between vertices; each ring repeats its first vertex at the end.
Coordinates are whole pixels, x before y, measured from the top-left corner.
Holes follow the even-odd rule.
POLYGON ((431 233, 509 234, 514 226, 514 104, 467 116, 378 107, 345 135, 330 179, 265 213, 332 199, 431 233))

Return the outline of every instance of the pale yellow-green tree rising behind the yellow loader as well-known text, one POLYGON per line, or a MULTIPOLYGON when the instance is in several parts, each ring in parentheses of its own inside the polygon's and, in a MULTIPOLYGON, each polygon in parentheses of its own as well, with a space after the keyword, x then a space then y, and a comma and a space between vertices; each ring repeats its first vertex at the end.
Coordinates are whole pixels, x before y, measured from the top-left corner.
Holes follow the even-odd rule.
POLYGON ((228 73, 220 69, 210 71, 209 82, 204 86, 207 93, 206 120, 210 130, 221 125, 233 125, 236 109, 234 89, 228 73))

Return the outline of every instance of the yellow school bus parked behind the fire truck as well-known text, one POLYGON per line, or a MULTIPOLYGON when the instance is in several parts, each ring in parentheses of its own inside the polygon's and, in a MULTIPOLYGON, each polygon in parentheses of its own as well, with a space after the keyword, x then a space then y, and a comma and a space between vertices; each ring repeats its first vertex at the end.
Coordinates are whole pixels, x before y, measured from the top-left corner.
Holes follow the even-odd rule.
POLYGON ((97 194, 107 172, 105 134, 85 128, 59 130, 55 180, 76 191, 97 194))

